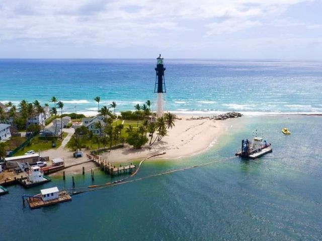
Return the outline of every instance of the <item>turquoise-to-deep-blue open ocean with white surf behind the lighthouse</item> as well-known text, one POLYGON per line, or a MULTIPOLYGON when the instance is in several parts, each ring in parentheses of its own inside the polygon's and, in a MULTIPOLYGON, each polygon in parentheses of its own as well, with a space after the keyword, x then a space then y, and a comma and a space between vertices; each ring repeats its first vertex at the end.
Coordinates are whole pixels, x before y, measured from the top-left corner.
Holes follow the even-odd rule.
MULTIPOLYGON (((155 102, 155 60, 0 60, 0 101, 42 103, 56 96, 64 112, 95 114, 155 102)), ((165 59, 165 106, 177 113, 322 113, 321 61, 165 59)))

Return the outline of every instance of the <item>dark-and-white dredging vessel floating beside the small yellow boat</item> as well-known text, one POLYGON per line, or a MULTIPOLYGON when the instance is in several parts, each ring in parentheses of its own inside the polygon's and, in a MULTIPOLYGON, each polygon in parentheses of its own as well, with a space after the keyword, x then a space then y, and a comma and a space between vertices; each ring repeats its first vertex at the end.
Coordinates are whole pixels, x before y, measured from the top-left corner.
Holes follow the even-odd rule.
POLYGON ((262 137, 254 137, 253 143, 248 139, 241 141, 241 152, 237 152, 235 156, 256 159, 272 151, 270 143, 263 141, 262 137))

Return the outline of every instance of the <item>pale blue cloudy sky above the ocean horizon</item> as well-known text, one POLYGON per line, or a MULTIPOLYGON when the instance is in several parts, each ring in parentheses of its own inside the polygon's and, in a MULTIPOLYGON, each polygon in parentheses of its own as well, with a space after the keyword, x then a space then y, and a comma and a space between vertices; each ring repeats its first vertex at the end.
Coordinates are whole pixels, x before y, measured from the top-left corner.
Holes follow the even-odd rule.
POLYGON ((322 60, 322 0, 0 0, 0 58, 322 60))

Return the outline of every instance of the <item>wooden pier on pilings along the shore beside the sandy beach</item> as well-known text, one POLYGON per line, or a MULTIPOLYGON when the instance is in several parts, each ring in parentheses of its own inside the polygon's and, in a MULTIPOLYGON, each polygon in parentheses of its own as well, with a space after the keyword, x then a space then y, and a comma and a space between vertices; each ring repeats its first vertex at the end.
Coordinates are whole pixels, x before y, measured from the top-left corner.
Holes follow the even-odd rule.
POLYGON ((101 157, 95 154, 87 154, 87 157, 91 161, 93 161, 98 167, 100 167, 102 171, 104 171, 105 173, 111 176, 125 174, 127 172, 131 174, 136 170, 136 165, 133 165, 132 163, 130 165, 125 165, 125 166, 120 165, 116 167, 115 165, 112 165, 112 163, 102 159, 101 157))

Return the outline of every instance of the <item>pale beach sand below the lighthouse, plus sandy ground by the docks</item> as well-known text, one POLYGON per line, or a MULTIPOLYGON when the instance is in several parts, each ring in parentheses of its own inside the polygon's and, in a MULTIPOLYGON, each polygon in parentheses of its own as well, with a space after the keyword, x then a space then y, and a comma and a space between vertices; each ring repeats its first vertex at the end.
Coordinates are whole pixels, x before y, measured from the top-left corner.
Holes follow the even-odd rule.
MULTIPOLYGON (((168 135, 161 141, 156 141, 152 146, 149 142, 141 149, 133 149, 128 145, 124 148, 112 150, 100 154, 100 157, 111 163, 130 163, 132 161, 142 160, 148 156, 166 153, 164 155, 153 157, 153 159, 178 159, 199 154, 206 151, 211 146, 215 145, 215 141, 228 130, 232 130, 238 125, 239 118, 226 119, 225 121, 214 121, 210 119, 194 119, 187 120, 191 116, 178 116, 179 119, 175 122, 175 127, 168 130, 168 135)), ((153 139, 156 134, 153 135, 153 139)), ((150 141, 150 140, 149 140, 150 141)), ((49 150, 42 152, 42 156, 49 156, 53 158, 63 158, 65 166, 73 164, 81 164, 65 169, 65 173, 79 174, 82 173, 82 166, 85 166, 86 171, 95 168, 94 163, 85 163, 87 161, 86 154, 89 151, 82 150, 84 157, 73 158, 72 152, 66 148, 59 148, 58 150, 49 150)), ((62 171, 52 175, 61 175, 62 171)))

